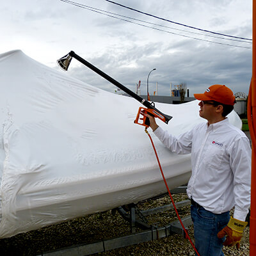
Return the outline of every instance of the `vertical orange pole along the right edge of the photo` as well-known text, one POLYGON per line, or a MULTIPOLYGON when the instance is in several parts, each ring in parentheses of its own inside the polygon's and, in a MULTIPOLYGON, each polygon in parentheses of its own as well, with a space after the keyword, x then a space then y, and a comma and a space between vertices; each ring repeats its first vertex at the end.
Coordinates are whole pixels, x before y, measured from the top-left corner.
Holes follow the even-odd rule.
POLYGON ((256 0, 252 3, 252 81, 248 95, 248 123, 250 121, 250 134, 252 139, 252 190, 251 190, 251 216, 250 216, 250 256, 256 255, 256 0), (250 103, 249 103, 250 102, 250 103))

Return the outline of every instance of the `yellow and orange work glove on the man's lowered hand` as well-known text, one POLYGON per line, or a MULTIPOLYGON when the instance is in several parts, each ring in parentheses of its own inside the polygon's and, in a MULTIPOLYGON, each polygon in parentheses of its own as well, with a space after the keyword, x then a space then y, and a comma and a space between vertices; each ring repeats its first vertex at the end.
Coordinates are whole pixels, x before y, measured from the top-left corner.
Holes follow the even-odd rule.
POLYGON ((247 222, 236 220, 234 218, 230 218, 228 225, 223 228, 220 232, 218 232, 218 238, 226 237, 225 242, 223 245, 225 246, 233 246, 236 244, 237 250, 240 247, 240 241, 243 236, 243 230, 246 227, 247 222))

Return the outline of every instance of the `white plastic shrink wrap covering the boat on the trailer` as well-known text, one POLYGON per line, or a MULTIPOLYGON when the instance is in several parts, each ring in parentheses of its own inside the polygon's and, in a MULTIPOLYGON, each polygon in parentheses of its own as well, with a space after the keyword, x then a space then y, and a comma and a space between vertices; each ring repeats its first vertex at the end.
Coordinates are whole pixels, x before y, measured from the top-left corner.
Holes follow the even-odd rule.
MULTIPOLYGON (((105 92, 29 58, 0 55, 0 238, 106 211, 166 191, 139 102, 105 92)), ((100 78, 99 78, 100 81, 100 78)), ((199 117, 198 101, 156 108, 178 136, 199 117)), ((230 122, 241 128, 232 112, 230 122)), ((190 155, 152 134, 170 189, 188 182, 190 155)))

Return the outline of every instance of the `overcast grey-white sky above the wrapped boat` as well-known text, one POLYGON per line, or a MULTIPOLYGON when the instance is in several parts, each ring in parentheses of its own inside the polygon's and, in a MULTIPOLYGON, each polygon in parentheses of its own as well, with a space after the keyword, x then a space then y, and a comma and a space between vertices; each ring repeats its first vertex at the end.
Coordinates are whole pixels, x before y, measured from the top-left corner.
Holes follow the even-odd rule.
MULTIPOLYGON (((180 24, 252 38, 251 0, 115 2, 180 24)), ((252 77, 249 40, 205 33, 105 0, 76 3, 83 4, 83 8, 61 0, 2 1, 0 52, 20 49, 36 61, 60 70, 56 60, 72 50, 131 90, 141 80, 142 94, 147 92, 147 77, 152 68, 156 70, 149 77, 150 94, 156 90, 156 83, 158 95, 170 95, 170 83, 186 83, 190 94, 204 92, 216 83, 226 84, 234 93, 248 94, 252 77), (97 8, 93 9, 97 12, 85 9, 86 6, 97 8), (143 26, 102 15, 101 10, 115 17, 112 13, 124 15, 118 17, 143 26)), ((72 60, 67 73, 109 92, 116 89, 77 60, 72 60)))

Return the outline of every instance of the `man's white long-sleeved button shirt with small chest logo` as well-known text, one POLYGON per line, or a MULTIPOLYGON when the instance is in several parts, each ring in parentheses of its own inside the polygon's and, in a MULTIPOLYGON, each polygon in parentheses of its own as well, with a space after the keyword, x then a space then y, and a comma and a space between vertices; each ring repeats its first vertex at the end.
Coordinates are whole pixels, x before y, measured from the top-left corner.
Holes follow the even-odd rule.
POLYGON ((189 198, 216 214, 235 206, 234 218, 245 220, 250 207, 252 151, 244 132, 226 118, 198 124, 177 138, 161 127, 154 134, 172 152, 191 153, 189 198))

